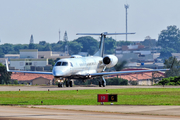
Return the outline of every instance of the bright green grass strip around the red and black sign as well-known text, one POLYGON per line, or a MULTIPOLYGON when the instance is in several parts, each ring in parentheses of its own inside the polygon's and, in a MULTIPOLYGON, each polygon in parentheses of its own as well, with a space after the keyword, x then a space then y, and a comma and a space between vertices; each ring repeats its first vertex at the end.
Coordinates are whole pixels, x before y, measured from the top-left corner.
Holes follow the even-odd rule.
MULTIPOLYGON (((180 88, 108 89, 118 94, 116 105, 180 105, 180 88)), ((0 105, 99 105, 97 94, 101 90, 65 91, 1 91, 0 105)), ((104 103, 110 104, 110 103, 104 103)))

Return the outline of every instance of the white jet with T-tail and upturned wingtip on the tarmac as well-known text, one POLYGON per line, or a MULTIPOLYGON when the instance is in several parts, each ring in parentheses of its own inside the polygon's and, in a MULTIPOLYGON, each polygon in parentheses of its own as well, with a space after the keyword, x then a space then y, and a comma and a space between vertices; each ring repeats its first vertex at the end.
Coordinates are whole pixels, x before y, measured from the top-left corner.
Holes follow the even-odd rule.
POLYGON ((106 68, 113 67, 117 64, 118 58, 115 55, 105 55, 104 52, 104 39, 106 35, 123 35, 134 33, 77 33, 77 35, 100 35, 99 50, 94 56, 82 57, 79 55, 72 55, 71 58, 61 59, 56 62, 52 72, 39 72, 39 71, 17 71, 9 70, 7 60, 6 66, 8 72, 22 72, 22 73, 35 73, 35 74, 49 74, 58 79, 58 87, 63 87, 64 80, 66 87, 72 87, 71 79, 86 80, 94 77, 100 77, 99 87, 106 86, 104 75, 113 74, 127 74, 138 72, 152 72, 152 71, 165 71, 167 69, 152 69, 152 70, 136 70, 136 71, 117 71, 117 72, 104 72, 106 68))

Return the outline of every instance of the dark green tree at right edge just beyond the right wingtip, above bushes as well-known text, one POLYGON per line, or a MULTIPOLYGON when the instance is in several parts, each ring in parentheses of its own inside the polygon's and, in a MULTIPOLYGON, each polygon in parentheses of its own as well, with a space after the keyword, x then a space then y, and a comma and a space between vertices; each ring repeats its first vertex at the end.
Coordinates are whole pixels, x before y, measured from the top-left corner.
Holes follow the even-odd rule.
POLYGON ((165 68, 170 68, 165 72, 166 77, 180 76, 180 61, 176 57, 169 57, 164 62, 165 68))

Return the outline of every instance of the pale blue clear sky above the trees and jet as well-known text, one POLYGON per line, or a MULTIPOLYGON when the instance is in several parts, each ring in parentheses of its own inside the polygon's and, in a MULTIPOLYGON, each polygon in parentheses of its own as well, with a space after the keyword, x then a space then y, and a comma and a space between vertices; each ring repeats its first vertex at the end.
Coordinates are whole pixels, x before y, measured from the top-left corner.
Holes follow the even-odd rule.
MULTIPOLYGON (((128 4, 128 41, 158 39, 167 26, 180 27, 180 0, 0 0, 0 44, 29 44, 78 37, 76 33, 125 33, 124 5, 128 4)), ((111 36, 125 40, 125 35, 111 36)), ((94 36, 98 39, 98 36, 94 36)))

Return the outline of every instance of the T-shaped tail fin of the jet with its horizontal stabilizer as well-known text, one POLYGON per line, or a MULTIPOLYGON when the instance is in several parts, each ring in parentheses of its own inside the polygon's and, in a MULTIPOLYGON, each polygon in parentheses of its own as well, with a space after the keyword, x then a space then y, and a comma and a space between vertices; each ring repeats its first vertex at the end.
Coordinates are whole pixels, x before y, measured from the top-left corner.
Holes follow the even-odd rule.
POLYGON ((103 57, 104 54, 104 38, 106 35, 126 35, 126 34, 135 34, 135 33, 77 33, 76 35, 100 35, 101 36, 101 41, 100 41, 100 46, 99 50, 94 54, 94 56, 100 56, 103 57))

